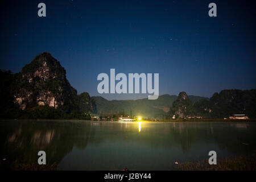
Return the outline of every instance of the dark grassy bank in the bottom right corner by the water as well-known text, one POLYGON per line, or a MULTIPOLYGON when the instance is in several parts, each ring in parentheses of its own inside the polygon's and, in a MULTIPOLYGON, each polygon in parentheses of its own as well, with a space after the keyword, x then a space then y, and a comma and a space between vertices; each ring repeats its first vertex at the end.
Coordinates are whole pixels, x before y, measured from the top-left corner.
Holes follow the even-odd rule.
POLYGON ((177 169, 183 171, 256 171, 256 154, 217 160, 216 165, 203 162, 180 163, 177 169))

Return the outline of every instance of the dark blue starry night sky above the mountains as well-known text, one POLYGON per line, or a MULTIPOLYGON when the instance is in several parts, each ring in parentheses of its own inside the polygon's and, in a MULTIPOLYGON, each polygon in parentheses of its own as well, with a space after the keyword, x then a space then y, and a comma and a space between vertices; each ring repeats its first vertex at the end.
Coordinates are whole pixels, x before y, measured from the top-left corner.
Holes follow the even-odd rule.
POLYGON ((2 1, 0 68, 19 72, 46 51, 78 93, 91 96, 100 95, 97 75, 110 75, 110 68, 159 73, 160 95, 255 89, 255 7, 253 1, 2 1), (210 2, 217 17, 208 16, 210 2))

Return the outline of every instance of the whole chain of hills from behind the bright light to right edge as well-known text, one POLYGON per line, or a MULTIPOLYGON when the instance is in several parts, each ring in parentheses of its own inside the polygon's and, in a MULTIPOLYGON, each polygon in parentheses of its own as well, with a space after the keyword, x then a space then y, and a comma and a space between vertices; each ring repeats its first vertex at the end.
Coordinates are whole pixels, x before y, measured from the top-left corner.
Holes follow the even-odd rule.
POLYGON ((157 100, 112 100, 93 97, 98 114, 141 115, 160 119, 187 118, 197 115, 203 118, 228 118, 234 114, 245 114, 256 118, 256 89, 222 90, 212 97, 187 96, 180 92, 179 96, 164 94, 157 100))

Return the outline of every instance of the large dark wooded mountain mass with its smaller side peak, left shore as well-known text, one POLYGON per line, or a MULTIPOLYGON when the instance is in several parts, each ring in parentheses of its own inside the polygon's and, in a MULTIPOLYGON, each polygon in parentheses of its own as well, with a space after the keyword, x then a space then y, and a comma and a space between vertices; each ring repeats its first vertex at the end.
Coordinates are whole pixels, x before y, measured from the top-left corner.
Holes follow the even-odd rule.
POLYGON ((66 71, 50 53, 36 56, 16 74, 1 74, 1 118, 90 118, 96 111, 88 93, 77 96, 66 71))

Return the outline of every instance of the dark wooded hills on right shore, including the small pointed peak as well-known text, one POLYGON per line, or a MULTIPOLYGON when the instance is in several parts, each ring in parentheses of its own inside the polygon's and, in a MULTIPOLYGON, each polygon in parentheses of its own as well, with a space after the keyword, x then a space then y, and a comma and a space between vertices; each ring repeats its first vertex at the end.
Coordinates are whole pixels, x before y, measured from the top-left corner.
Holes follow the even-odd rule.
MULTIPOLYGON (((185 96, 184 92, 180 93, 185 96)), ((179 118, 187 115, 201 115, 203 118, 224 118, 234 114, 245 114, 256 117, 256 89, 222 90, 214 93, 210 100, 201 99, 191 104, 189 100, 178 98, 170 108, 170 115, 179 114, 179 118)))

